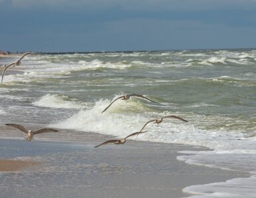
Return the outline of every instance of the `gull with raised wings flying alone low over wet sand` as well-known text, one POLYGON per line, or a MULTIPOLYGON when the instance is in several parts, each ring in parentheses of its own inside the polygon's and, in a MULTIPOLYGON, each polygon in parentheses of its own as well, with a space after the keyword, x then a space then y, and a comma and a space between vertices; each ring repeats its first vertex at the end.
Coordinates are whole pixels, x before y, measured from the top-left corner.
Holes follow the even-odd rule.
POLYGON ((33 136, 36 134, 48 133, 48 132, 58 132, 58 130, 50 129, 50 128, 42 128, 42 129, 38 129, 36 131, 31 131, 31 130, 28 130, 25 127, 23 127, 23 125, 17 125, 15 123, 7 123, 5 125, 7 125, 9 127, 13 127, 15 129, 19 129, 20 131, 27 133, 27 137, 25 137, 25 139, 27 139, 27 141, 32 141, 33 136))

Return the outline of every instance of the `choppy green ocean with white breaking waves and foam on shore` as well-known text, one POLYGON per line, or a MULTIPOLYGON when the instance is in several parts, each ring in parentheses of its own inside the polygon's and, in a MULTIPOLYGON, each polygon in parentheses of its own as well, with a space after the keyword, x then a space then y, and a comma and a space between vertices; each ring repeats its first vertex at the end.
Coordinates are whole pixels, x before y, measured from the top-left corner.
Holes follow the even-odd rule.
MULTIPOLYGON (((188 123, 166 118, 131 139, 208 147, 181 150, 178 160, 252 175, 184 191, 256 194, 256 49, 49 53, 27 55, 16 70, 0 84, 1 125, 70 130, 40 140, 82 142, 86 133, 125 137, 151 119, 179 116, 188 123), (157 103, 131 97, 101 114, 123 94, 157 103)), ((0 138, 24 137, 0 131, 0 138)))

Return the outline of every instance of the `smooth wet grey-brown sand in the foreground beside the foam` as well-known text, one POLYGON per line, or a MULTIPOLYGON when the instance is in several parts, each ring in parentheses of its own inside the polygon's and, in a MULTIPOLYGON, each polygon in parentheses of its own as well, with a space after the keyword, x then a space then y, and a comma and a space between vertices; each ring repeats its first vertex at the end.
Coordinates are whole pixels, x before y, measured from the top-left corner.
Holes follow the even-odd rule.
POLYGON ((141 141, 94 148, 106 138, 90 134, 84 143, 0 139, 1 170, 9 170, 0 173, 1 197, 177 198, 188 196, 182 189, 189 185, 249 176, 176 160, 178 150, 204 148, 141 141))

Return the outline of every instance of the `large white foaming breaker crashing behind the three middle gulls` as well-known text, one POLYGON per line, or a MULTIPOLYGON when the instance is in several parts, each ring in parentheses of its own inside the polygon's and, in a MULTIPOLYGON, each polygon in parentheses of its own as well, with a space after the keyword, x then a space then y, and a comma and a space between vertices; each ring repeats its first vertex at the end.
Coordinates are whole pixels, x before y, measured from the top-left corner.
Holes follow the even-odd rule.
POLYGON ((131 99, 117 100, 106 112, 101 113, 109 104, 109 100, 98 100, 92 108, 80 110, 68 119, 57 121, 51 126, 118 137, 139 131, 139 117, 135 112, 147 111, 145 104, 131 99))

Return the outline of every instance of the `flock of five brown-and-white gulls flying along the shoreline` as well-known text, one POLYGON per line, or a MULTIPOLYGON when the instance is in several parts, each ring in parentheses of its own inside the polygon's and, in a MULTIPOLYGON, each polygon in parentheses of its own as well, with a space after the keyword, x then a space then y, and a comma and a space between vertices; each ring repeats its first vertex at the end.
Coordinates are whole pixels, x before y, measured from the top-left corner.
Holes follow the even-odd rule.
MULTIPOLYGON (((21 65, 21 60, 26 56, 26 55, 29 55, 29 54, 32 54, 34 52, 26 52, 24 53, 23 55, 21 55, 21 57, 19 59, 17 59, 17 61, 14 61, 13 63, 10 63, 8 65, 3 65, 3 73, 2 73, 2 79, 1 79, 1 83, 3 83, 3 77, 5 75, 5 72, 7 71, 7 69, 11 66, 15 67, 15 66, 18 66, 18 65, 21 65)), ((140 95, 140 94, 125 94, 124 96, 119 96, 118 98, 115 98, 115 100, 113 100, 109 106, 107 106, 101 113, 105 112, 115 101, 121 99, 121 100, 129 100, 129 98, 131 98, 131 96, 135 96, 135 97, 139 97, 139 98, 144 98, 146 100, 149 100, 151 102, 154 102, 154 103, 157 103, 153 100, 151 100, 150 98, 147 98, 143 95, 140 95)), ((166 118, 174 118, 174 119, 179 119, 181 121, 185 121, 185 122, 188 122, 186 119, 183 119, 181 117, 178 117, 178 116, 164 116, 164 117, 160 117, 159 119, 152 119, 152 120, 149 120, 147 121, 147 123, 145 123, 145 125, 143 125, 143 127, 141 128, 140 131, 138 132, 135 132, 135 133, 131 133, 130 135, 127 135, 125 138, 121 138, 121 139, 110 139, 108 141, 105 141, 99 145, 97 145, 96 147, 94 148, 97 148, 97 147, 100 147, 100 146, 103 146, 103 145, 107 145, 109 143, 113 143, 115 145, 122 145, 124 143, 126 143, 126 139, 129 138, 129 137, 132 137, 132 136, 135 136, 135 135, 139 135, 141 133, 146 133, 147 131, 143 131, 143 129, 149 124, 149 123, 156 123, 157 125, 159 123, 162 123, 163 119, 166 119, 166 118)), ((24 127, 23 125, 19 125, 19 124, 15 124, 15 123, 7 123, 5 124, 9 127, 13 127, 15 129, 19 129, 20 131, 23 131, 24 133, 27 134, 27 136, 25 137, 25 139, 27 139, 27 141, 32 141, 32 138, 34 135, 36 134, 40 134, 40 133, 49 133, 49 132, 58 132, 58 130, 56 129, 51 129, 51 128, 42 128, 42 129, 37 129, 36 131, 32 131, 32 130, 29 130, 27 129, 26 127, 24 127)))

